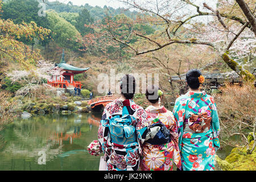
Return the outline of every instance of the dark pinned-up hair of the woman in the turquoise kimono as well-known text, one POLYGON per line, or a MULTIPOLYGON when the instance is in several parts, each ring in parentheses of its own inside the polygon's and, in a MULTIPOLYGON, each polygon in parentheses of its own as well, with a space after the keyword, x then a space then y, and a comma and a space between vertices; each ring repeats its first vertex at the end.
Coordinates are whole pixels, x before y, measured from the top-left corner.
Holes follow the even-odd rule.
POLYGON ((200 86, 200 82, 198 77, 200 77, 202 73, 199 69, 191 69, 186 74, 186 80, 188 83, 188 86, 192 89, 198 89, 200 86))

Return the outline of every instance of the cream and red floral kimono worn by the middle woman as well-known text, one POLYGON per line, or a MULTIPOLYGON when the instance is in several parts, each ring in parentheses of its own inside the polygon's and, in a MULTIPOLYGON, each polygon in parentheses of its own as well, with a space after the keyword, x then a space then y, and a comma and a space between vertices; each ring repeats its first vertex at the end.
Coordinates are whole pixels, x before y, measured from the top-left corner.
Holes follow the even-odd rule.
POLYGON ((172 171, 173 163, 175 163, 177 168, 181 169, 177 125, 174 115, 164 106, 160 109, 148 106, 146 111, 148 113, 149 125, 154 124, 156 118, 159 118, 166 125, 167 129, 170 130, 171 142, 166 144, 144 142, 142 146, 141 169, 143 171, 172 171))

